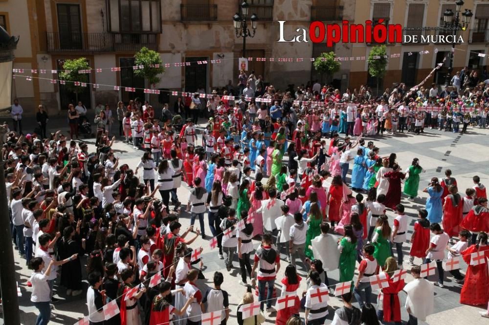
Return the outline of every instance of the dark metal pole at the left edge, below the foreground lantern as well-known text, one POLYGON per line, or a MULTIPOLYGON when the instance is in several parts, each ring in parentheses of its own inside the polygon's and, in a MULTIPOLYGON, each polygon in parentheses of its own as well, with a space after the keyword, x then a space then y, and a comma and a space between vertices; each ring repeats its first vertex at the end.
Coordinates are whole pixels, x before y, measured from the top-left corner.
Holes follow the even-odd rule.
MULTIPOLYGON (((0 143, 6 128, 0 128, 0 143)), ((4 324, 20 325, 19 301, 17 297, 17 281, 15 279, 14 250, 8 212, 7 192, 5 187, 5 171, 3 157, 0 155, 0 289, 3 305, 4 324)))

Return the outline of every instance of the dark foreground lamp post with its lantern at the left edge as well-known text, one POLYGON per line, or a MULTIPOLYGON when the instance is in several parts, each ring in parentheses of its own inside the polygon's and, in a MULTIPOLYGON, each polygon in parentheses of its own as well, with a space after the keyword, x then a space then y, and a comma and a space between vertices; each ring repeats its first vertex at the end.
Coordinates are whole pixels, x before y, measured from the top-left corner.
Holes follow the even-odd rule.
MULTIPOLYGON (((12 82, 12 62, 14 50, 17 48, 19 37, 11 37, 0 27, 0 66, 8 68, 4 76, 5 80, 12 82)), ((9 94, 10 98, 10 94, 9 94)), ((3 108, 3 107, 0 107, 3 108)), ((3 145, 3 137, 7 132, 6 126, 0 127, 0 145, 3 145)), ((3 303, 3 321, 5 324, 21 324, 19 316, 19 301, 17 298, 17 284, 15 279, 14 250, 12 248, 12 234, 8 213, 7 196, 5 195, 5 174, 2 156, 0 155, 0 287, 3 303)))

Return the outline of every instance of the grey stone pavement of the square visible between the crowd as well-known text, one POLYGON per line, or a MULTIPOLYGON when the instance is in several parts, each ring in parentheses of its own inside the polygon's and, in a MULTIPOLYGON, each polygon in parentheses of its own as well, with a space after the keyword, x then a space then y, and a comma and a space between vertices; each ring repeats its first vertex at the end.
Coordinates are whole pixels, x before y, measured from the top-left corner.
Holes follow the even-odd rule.
MULTIPOLYGON (((32 125, 32 124, 31 124, 32 125)), ((55 123, 54 125, 63 125, 55 123)), ((202 128, 204 124, 200 124, 202 128)), ((66 129, 66 128, 65 128, 66 129)), ((116 131, 116 128, 113 128, 116 131)), ((479 175, 482 183, 489 185, 489 172, 487 171, 486 162, 489 158, 489 151, 487 150, 487 136, 489 130, 481 130, 478 128, 469 128, 468 134, 459 135, 451 132, 443 132, 438 130, 426 129, 424 134, 415 136, 409 134, 398 134, 396 136, 384 135, 382 137, 373 137, 372 139, 365 138, 366 141, 373 140, 375 145, 380 148, 380 155, 382 157, 388 156, 390 153, 395 152, 397 154, 397 161, 403 170, 407 169, 411 164, 414 157, 420 159, 421 166, 426 170, 421 174, 420 183, 420 197, 416 198, 414 202, 409 202, 405 197, 402 198, 402 203, 406 206, 406 213, 412 217, 409 223, 408 233, 412 234, 413 225, 416 221, 417 210, 424 208, 426 194, 421 190, 428 184, 431 177, 442 178, 444 176, 445 168, 452 169, 453 177, 457 179, 459 185, 459 191, 464 194, 467 187, 472 187, 472 176, 479 175)), ((93 149, 93 139, 87 139, 90 144, 90 150, 93 149)), ((200 141, 198 142, 200 143, 200 141)), ((115 142, 113 149, 116 152, 116 157, 120 157, 120 163, 127 163, 132 168, 139 162, 142 156, 142 151, 133 150, 132 145, 125 144, 123 142, 115 142)), ((287 158, 286 158, 287 159, 287 158)), ((141 175, 139 175, 141 176, 141 175)), ((186 204, 188 199, 188 188, 182 186, 178 190, 179 200, 186 204)), ((159 197, 159 194, 156 194, 159 197)), ((392 225, 394 213, 387 212, 392 225)), ((207 216, 205 219, 206 234, 211 234, 207 225, 207 216)), ((182 229, 185 229, 190 224, 189 214, 182 211, 180 217, 180 223, 182 223, 182 229)), ((199 223, 196 223, 199 228, 199 223)), ((189 234, 192 236, 192 234, 189 234)), ((409 236, 408 236, 409 237, 409 236)), ((254 241, 255 248, 259 246, 259 242, 254 241)), ((238 260, 235 256, 235 268, 231 272, 227 272, 224 266, 223 260, 219 259, 218 251, 210 250, 209 236, 206 240, 202 240, 200 237, 194 242, 192 247, 203 247, 202 260, 205 264, 204 275, 207 280, 200 282, 199 285, 205 287, 206 285, 212 285, 212 275, 215 271, 220 271, 224 274, 224 283, 222 289, 228 291, 229 301, 231 308, 231 318, 228 324, 237 324, 236 322, 236 306, 241 300, 245 287, 237 284, 240 280, 239 268, 237 268, 238 260)), ((410 244, 404 244, 404 268, 409 269, 407 259, 409 255, 410 244)), ((19 279, 19 285, 22 291, 22 297, 19 298, 21 308, 21 321, 22 324, 34 324, 35 317, 37 316, 37 309, 30 303, 30 289, 27 288, 25 283, 31 274, 31 271, 25 266, 25 260, 19 258, 18 252, 14 252, 16 260, 16 272, 19 279)), ((285 256, 282 256, 285 257, 285 256)), ((421 259, 416 259, 415 263, 421 264, 421 259)), ((278 284, 284 276, 285 266, 287 261, 281 261, 281 269, 277 276, 276 287, 279 291, 280 285, 278 284)), ((300 264, 299 264, 300 265, 300 264)), ((465 268, 465 266, 464 266, 465 268)), ((305 273, 301 266, 298 266, 298 271, 303 276, 300 288, 297 290, 300 295, 306 288, 305 273)), ((479 316, 478 311, 484 310, 483 308, 472 307, 459 304, 459 293, 462 284, 456 284, 451 277, 447 277, 448 272, 445 272, 445 288, 439 288, 435 286, 435 314, 431 315, 426 323, 420 322, 420 324, 442 324, 444 322, 450 322, 451 324, 462 324, 473 322, 473 324, 484 324, 485 319, 479 316), (455 294, 454 294, 455 293, 455 294)), ((328 272, 330 277, 330 284, 337 283, 339 279, 338 271, 328 272)), ((436 276, 429 278, 430 281, 436 281, 436 276)), ((408 274, 406 281, 411 280, 408 274)), ((85 284, 86 286, 88 284, 85 284)), ((87 314, 85 292, 78 297, 67 297, 65 289, 57 287, 57 296, 60 298, 60 302, 54 304, 53 313, 55 314, 50 324, 74 324, 78 319, 87 314)), ((376 300, 375 300, 376 301, 376 300)), ((405 294, 400 293, 401 306, 405 302, 405 294)), ((330 297, 329 304, 333 307, 341 306, 339 298, 330 297)), ((8 306, 4 306, 8 307, 8 306)), ((404 308, 402 310, 402 319, 407 321, 407 313, 404 308)), ((274 324, 274 316, 267 316, 267 324, 274 324)), ((304 312, 301 312, 301 316, 304 316, 304 312)), ((330 308, 330 314, 328 316, 329 324, 333 319, 333 309, 330 308)))

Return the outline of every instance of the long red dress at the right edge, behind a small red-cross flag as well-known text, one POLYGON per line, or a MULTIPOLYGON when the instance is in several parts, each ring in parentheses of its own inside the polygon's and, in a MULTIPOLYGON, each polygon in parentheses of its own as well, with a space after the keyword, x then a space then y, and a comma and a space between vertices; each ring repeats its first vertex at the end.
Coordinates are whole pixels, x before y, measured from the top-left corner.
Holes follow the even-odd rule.
POLYGON ((489 246, 472 245, 464 250, 462 258, 468 264, 465 274, 464 286, 460 292, 460 303, 466 305, 487 305, 489 300, 489 274, 488 261, 479 265, 470 265, 470 254, 484 251, 486 258, 489 257, 489 246))

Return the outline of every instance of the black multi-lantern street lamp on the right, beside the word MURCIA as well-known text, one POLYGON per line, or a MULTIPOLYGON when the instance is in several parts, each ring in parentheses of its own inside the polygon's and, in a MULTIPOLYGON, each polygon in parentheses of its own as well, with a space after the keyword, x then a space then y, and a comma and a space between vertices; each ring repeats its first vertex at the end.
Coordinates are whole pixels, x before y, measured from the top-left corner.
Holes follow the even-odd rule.
POLYGON ((462 11, 462 6, 464 5, 463 0, 457 0, 455 2, 455 12, 451 9, 446 9, 443 13, 443 21, 445 24, 445 29, 448 30, 450 35, 454 36, 454 40, 452 42, 452 51, 450 53, 450 65, 448 67, 448 71, 445 76, 445 87, 448 86, 451 79, 451 74, 453 70, 453 55, 455 54, 455 36, 459 31, 465 31, 467 27, 470 25, 470 20, 472 19, 472 11, 465 9, 462 11), (460 16, 462 16, 462 21, 460 20, 460 16))

